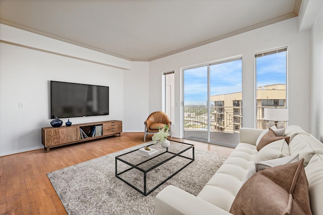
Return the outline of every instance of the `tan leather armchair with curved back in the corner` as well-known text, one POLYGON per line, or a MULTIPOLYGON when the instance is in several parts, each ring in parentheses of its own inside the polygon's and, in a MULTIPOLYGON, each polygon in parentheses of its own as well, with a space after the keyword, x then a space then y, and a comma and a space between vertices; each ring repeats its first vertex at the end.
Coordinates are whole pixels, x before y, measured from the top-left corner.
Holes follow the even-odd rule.
POLYGON ((145 136, 143 137, 143 141, 146 141, 146 136, 148 134, 153 134, 158 132, 158 127, 164 127, 164 124, 167 124, 170 128, 170 135, 172 137, 171 132, 171 119, 168 117, 166 113, 163 111, 156 111, 151 113, 147 120, 144 122, 145 124, 145 136))

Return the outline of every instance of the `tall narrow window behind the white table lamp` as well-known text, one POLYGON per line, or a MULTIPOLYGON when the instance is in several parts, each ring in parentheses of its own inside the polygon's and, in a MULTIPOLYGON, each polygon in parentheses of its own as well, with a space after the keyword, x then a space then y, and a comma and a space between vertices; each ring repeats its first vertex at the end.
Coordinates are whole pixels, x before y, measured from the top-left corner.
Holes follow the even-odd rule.
POLYGON ((255 68, 256 128, 265 129, 264 108, 288 107, 287 47, 256 53, 255 68))

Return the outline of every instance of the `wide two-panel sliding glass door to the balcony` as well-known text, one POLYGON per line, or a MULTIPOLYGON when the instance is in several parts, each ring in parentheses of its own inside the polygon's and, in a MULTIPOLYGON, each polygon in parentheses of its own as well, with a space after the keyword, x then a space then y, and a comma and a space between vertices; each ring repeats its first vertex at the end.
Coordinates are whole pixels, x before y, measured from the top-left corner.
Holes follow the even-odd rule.
POLYGON ((242 126, 242 59, 183 70, 184 138, 236 146, 242 126))

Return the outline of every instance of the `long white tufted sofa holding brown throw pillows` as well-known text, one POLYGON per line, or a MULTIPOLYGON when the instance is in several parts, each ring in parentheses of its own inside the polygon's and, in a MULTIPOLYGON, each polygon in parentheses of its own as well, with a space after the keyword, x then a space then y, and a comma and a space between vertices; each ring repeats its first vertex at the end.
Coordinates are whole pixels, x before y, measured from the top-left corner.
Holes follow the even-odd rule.
MULTIPOLYGON (((323 213, 323 144, 301 127, 291 125, 285 130, 285 139, 277 140, 257 151, 263 134, 268 131, 240 129, 240 144, 219 168, 216 174, 194 196, 175 186, 167 186, 155 197, 155 215, 161 214, 232 214, 230 208, 248 177, 255 172, 255 163, 281 157, 298 156, 304 159, 308 181, 310 209, 313 214, 323 213), (260 137, 259 137, 260 136, 260 137)), ((261 171, 260 171, 261 172, 261 171)), ((254 205, 261 207, 262 205, 254 205)), ((269 212, 270 214, 270 212, 269 212)))

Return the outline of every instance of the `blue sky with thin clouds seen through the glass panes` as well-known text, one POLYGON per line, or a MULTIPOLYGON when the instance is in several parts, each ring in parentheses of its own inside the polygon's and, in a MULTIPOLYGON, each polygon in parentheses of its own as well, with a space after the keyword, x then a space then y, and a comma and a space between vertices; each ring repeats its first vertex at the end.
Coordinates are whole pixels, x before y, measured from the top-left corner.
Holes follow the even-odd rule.
MULTIPOLYGON (((286 84, 286 52, 256 58, 257 87, 286 84)), ((210 65, 210 95, 242 91, 242 60, 210 65)), ((184 104, 206 105, 207 66, 184 70, 184 104)))

